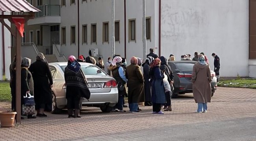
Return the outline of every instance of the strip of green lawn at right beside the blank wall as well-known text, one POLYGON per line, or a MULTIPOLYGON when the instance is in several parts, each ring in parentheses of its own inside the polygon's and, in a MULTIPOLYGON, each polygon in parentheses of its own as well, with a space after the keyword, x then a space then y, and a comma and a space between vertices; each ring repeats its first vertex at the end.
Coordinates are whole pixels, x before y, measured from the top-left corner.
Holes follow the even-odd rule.
POLYGON ((256 79, 220 80, 218 87, 256 89, 256 79))

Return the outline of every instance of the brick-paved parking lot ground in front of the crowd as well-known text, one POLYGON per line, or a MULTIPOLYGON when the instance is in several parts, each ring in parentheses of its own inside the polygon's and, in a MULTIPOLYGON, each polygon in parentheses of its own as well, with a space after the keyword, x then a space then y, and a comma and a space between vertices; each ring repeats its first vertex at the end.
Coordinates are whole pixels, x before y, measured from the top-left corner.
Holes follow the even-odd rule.
MULTIPOLYGON (((173 99, 173 111, 102 113, 83 107, 81 119, 67 111, 24 119, 19 127, 0 128, 0 141, 255 141, 256 90, 219 87, 208 112, 197 114, 192 94, 173 99)), ((0 104, 4 108, 5 103, 0 104)), ((7 106, 5 106, 7 107, 7 106)), ((128 110, 128 108, 125 108, 128 110)))

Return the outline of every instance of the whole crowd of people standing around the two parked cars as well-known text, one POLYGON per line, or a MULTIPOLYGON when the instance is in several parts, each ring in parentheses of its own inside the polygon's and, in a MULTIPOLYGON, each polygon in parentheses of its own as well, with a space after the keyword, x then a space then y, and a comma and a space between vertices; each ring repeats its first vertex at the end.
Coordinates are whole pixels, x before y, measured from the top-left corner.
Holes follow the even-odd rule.
MULTIPOLYGON (((214 58, 214 71, 219 80, 220 61, 219 57, 212 53, 214 58)), ((198 113, 207 111, 207 103, 211 101, 211 72, 208 63, 208 58, 204 52, 198 54, 195 52, 194 58, 191 59, 190 54, 181 56, 181 60, 197 61, 193 67, 192 83, 193 95, 195 102, 198 103, 198 113)), ((104 70, 109 76, 112 76, 117 81, 118 102, 113 107, 112 112, 126 112, 124 107, 124 97, 128 97, 129 112, 139 113, 141 109, 138 103, 145 102, 145 106, 152 106, 153 114, 164 114, 164 111, 172 111, 171 95, 173 93, 174 75, 168 61, 175 61, 173 54, 169 59, 164 56, 158 56, 154 53, 154 49, 150 49, 147 58, 144 61, 138 57, 130 59, 130 65, 127 66, 126 58, 120 55, 108 58, 106 63, 101 57, 98 61, 92 57, 91 51, 89 56, 80 55, 78 59, 74 56, 69 56, 67 67, 65 68, 64 76, 66 83, 66 98, 68 117, 79 118, 80 109, 82 108, 83 95, 89 92, 88 82, 81 70, 80 62, 87 62, 97 65, 104 70), (143 67, 143 73, 141 72, 143 67)), ((21 60, 21 103, 24 104, 23 96, 31 94, 35 98, 35 110, 37 117, 47 117, 45 111, 52 110, 52 92, 53 84, 52 75, 49 65, 45 60, 43 53, 36 56, 36 61, 31 63, 29 58, 21 60)), ((16 83, 16 58, 10 65, 11 73, 11 95, 12 109, 15 109, 15 83, 16 83)), ((28 115, 28 118, 36 118, 34 115, 28 115)))

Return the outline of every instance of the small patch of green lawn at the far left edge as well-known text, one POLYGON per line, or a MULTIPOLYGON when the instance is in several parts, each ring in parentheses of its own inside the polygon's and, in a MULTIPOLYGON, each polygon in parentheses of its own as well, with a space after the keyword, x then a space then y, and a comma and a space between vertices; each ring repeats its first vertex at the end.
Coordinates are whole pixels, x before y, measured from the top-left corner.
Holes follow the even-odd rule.
POLYGON ((0 101, 11 101, 9 82, 0 82, 0 101))

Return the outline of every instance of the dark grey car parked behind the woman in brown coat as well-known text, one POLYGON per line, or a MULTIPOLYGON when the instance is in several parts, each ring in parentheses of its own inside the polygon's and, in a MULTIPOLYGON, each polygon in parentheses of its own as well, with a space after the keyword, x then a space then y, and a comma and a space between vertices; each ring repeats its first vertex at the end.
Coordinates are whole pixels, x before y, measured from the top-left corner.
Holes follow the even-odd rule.
MULTIPOLYGON (((197 61, 169 61, 173 75, 174 75, 174 92, 172 98, 176 98, 178 94, 192 93, 192 71, 194 64, 197 61)), ((211 71, 211 96, 213 96, 217 89, 217 78, 215 72, 211 71)))

